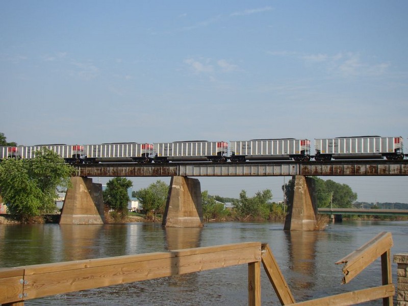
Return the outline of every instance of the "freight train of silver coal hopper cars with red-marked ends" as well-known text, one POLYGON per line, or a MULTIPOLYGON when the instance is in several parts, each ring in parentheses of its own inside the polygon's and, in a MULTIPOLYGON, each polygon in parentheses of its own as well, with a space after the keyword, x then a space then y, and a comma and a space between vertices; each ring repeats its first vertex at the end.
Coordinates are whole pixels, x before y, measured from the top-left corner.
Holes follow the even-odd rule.
POLYGON ((65 162, 78 163, 168 163, 209 161, 232 163, 246 161, 330 161, 332 159, 388 159, 399 161, 403 138, 359 136, 315 139, 314 155, 308 139, 253 139, 245 141, 175 141, 168 143, 47 144, 0 147, 0 160, 31 159, 42 147, 53 150, 65 162))

